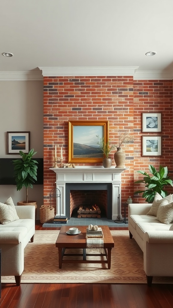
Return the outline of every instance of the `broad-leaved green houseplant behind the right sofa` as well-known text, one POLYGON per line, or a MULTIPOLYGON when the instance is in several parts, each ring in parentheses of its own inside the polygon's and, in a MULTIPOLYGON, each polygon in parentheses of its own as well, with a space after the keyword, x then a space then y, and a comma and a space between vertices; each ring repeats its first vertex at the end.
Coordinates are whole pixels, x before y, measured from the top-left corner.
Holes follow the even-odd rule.
POLYGON ((159 167, 159 171, 155 169, 154 166, 149 165, 149 171, 152 176, 147 174, 147 172, 138 170, 138 173, 144 175, 143 180, 138 180, 135 183, 144 183, 146 189, 138 190, 134 194, 143 193, 142 197, 146 198, 148 203, 152 203, 155 197, 155 193, 159 193, 163 198, 168 195, 168 192, 164 190, 164 186, 171 185, 173 186, 173 182, 170 179, 168 174, 167 167, 159 167))

